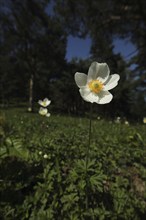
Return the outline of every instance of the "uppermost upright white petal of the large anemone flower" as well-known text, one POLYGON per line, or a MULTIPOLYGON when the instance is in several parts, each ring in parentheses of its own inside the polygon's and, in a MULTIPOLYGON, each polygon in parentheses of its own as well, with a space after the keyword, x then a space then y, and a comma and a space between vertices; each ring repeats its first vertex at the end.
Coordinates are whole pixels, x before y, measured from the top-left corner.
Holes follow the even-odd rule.
POLYGON ((101 82, 105 82, 109 77, 109 67, 106 63, 93 62, 89 67, 88 81, 98 79, 101 82))

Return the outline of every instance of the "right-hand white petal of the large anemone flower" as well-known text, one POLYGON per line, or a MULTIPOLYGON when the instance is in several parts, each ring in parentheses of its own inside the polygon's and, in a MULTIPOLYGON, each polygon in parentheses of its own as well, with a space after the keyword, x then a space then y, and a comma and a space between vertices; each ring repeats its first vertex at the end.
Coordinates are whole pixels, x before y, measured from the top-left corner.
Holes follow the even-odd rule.
POLYGON ((119 79, 120 76, 118 74, 110 75, 108 80, 105 82, 104 90, 107 91, 116 87, 119 79))

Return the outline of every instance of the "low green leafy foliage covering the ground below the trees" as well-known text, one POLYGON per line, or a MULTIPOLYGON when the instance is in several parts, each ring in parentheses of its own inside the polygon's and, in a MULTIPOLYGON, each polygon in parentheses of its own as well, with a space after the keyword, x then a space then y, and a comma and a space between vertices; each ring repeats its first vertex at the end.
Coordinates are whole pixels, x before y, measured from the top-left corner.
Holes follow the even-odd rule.
POLYGON ((1 219, 145 219, 145 125, 93 119, 87 187, 88 119, 15 109, 0 122, 1 219))

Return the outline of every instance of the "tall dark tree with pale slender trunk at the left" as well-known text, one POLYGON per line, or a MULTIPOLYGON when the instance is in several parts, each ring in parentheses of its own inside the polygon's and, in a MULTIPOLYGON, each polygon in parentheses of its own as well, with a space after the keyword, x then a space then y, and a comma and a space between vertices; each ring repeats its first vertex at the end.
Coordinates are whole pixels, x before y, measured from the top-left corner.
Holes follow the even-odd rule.
POLYGON ((29 96, 32 105, 33 99, 48 93, 49 79, 65 65, 66 34, 59 21, 48 15, 48 3, 3 1, 0 68, 2 97, 7 100, 29 96), (14 88, 7 85, 10 78, 14 88))

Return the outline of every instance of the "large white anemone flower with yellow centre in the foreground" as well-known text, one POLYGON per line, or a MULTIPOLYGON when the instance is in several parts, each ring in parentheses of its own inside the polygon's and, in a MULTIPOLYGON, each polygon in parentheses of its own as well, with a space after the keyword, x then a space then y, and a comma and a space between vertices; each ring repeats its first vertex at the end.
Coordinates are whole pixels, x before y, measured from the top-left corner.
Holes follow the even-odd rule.
POLYGON ((89 67, 88 75, 75 73, 75 82, 82 98, 87 102, 97 104, 106 104, 112 100, 113 95, 108 90, 117 86, 119 79, 118 74, 110 75, 106 63, 93 62, 89 67))

